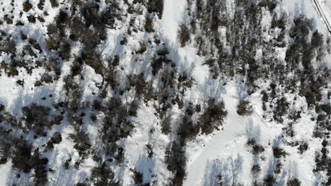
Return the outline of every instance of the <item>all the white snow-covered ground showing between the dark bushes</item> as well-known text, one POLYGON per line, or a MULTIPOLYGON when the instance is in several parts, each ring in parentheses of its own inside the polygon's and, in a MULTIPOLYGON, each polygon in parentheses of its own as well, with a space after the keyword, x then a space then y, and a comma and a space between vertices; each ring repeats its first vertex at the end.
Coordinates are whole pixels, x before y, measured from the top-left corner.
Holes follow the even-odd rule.
MULTIPOLYGON (((323 4, 323 10, 329 19, 331 19, 331 2, 327 0, 319 0, 323 4)), ((0 0, 0 8, 6 9, 1 13, 1 18, 7 10, 11 7, 9 1, 0 0)), ((30 1, 32 4, 37 4, 37 1, 30 1)), ((119 1, 117 1, 119 2, 119 1)), ((181 116, 184 109, 180 109, 178 104, 173 104, 168 109, 168 115, 171 118, 171 129, 169 135, 165 135, 161 130, 161 117, 157 110, 158 100, 156 98, 150 100, 143 100, 139 102, 137 109, 137 116, 132 117, 134 123, 134 130, 127 137, 120 138, 114 142, 118 147, 124 148, 124 160, 117 163, 112 155, 106 154, 102 149, 102 140, 100 140, 100 133, 103 131, 103 118, 105 114, 101 111, 94 111, 91 105, 94 100, 100 100, 100 94, 105 90, 108 96, 104 103, 110 100, 110 97, 122 96, 123 103, 131 103, 138 99, 137 90, 132 85, 125 85, 126 78, 129 75, 142 75, 145 79, 150 80, 152 85, 156 87, 159 92, 163 90, 158 89, 158 84, 161 84, 161 77, 158 75, 151 75, 151 61, 153 61, 158 50, 163 47, 168 47, 168 57, 175 63, 178 74, 192 75, 192 87, 185 87, 181 90, 183 93, 180 95, 181 101, 187 106, 187 103, 194 105, 205 105, 209 98, 214 98, 216 102, 223 101, 225 109, 228 112, 223 125, 220 130, 215 130, 209 135, 199 133, 197 137, 190 140, 182 147, 185 150, 186 156, 186 176, 183 180, 185 186, 209 186, 216 184, 216 178, 221 175, 224 185, 252 185, 255 180, 264 180, 266 175, 274 173, 277 163, 281 162, 282 172, 276 175, 277 183, 275 185, 286 185, 286 182, 291 178, 298 178, 303 185, 323 185, 327 180, 326 173, 314 173, 315 168, 315 151, 320 151, 323 147, 323 139, 313 137, 313 132, 316 126, 315 120, 317 114, 308 109, 306 99, 298 97, 298 92, 286 92, 284 97, 294 101, 290 107, 291 109, 300 110, 301 118, 291 126, 293 128, 294 136, 288 137, 284 134, 285 128, 289 126, 292 120, 284 119, 283 123, 277 123, 270 119, 272 115, 267 116, 262 109, 262 91, 269 89, 272 85, 271 80, 259 80, 256 82, 257 91, 253 94, 246 92, 244 77, 240 75, 233 75, 231 77, 212 77, 211 70, 205 61, 209 56, 197 55, 198 44, 194 40, 195 35, 191 36, 190 42, 186 46, 180 46, 178 38, 178 31, 182 23, 187 24, 189 16, 187 16, 187 6, 192 1, 187 0, 164 0, 163 15, 159 20, 155 13, 148 13, 146 8, 137 3, 130 5, 133 1, 120 1, 117 5, 122 10, 127 11, 129 6, 134 8, 141 8, 141 14, 130 15, 124 12, 123 15, 127 16, 122 20, 116 20, 113 28, 107 30, 107 39, 98 45, 96 51, 101 51, 103 55, 100 58, 107 61, 110 56, 120 56, 120 66, 115 68, 116 78, 122 80, 117 82, 119 87, 125 87, 124 95, 120 95, 110 87, 100 89, 103 84, 103 76, 95 73, 91 66, 83 66, 81 76, 74 77, 74 82, 83 87, 81 89, 81 108, 79 113, 72 113, 79 116, 84 113, 83 124, 81 131, 87 132, 90 137, 92 149, 97 151, 98 156, 107 162, 108 167, 115 173, 115 179, 121 180, 121 185, 168 185, 174 173, 169 171, 168 165, 165 163, 166 149, 171 142, 178 138, 176 129, 181 123, 181 116), (147 16, 153 19, 153 29, 156 32, 147 33, 144 31, 145 19, 147 16), (132 26, 133 25, 133 26, 132 26), (130 34, 127 30, 130 30, 130 34), (132 31, 135 30, 135 31, 132 31), (121 44, 123 39, 127 39, 127 44, 121 44), (160 44, 155 44, 156 40, 160 39, 160 44), (137 51, 141 44, 146 44, 146 51, 138 54, 137 51), (133 88, 132 88, 133 87, 133 88), (119 96, 120 95, 120 96, 119 96), (244 95, 244 96, 243 96, 244 95), (239 116, 237 113, 237 106, 243 97, 252 104, 252 114, 250 116, 239 116), (89 118, 91 113, 95 113, 98 118, 97 122, 92 122, 89 118), (85 116, 86 114, 86 116, 85 116), (263 147, 261 154, 252 154, 252 147, 248 141, 254 138, 257 144, 263 147), (308 150, 300 154, 298 152, 298 145, 292 145, 294 142, 307 142, 308 150), (274 158, 273 147, 281 147, 286 151, 286 158, 274 158), (149 151, 153 150, 153 157, 149 157, 149 151), (110 161, 111 159, 111 161, 110 161), (260 173, 252 175, 252 166, 259 164, 260 173), (134 171, 133 171, 134 170, 134 171), (134 183, 135 171, 142 173, 142 180, 140 183, 134 183), (323 180, 323 183, 322 183, 323 180)), ((17 2, 16 2, 17 3, 17 2)), ((22 1, 16 4, 15 13, 18 14, 22 11, 22 1)), ((205 1, 204 1, 205 3, 205 1)), ((66 4, 66 3, 64 3, 66 4)), ((98 3, 103 9, 105 1, 98 3)), ((228 7, 228 15, 233 16, 233 1, 226 1, 228 7)), ((57 15, 60 8, 52 8, 49 1, 45 3, 45 11, 49 13, 45 19, 45 23, 26 23, 24 27, 18 30, 13 29, 13 25, 0 25, 0 30, 6 30, 14 37, 20 37, 21 31, 34 37, 41 43, 45 39, 45 33, 49 23, 53 22, 54 17, 57 15)), ((140 10, 140 9, 139 9, 140 10)), ((300 14, 306 15, 308 18, 313 19, 314 30, 318 29, 325 38, 330 37, 330 33, 325 27, 323 18, 320 17, 317 9, 315 8, 312 0, 283 0, 279 1, 275 11, 279 13, 288 13, 290 18, 297 17, 300 14)), ((139 11, 137 11, 139 12, 139 11)), ((42 15, 42 11, 36 8, 36 11, 30 10, 28 15, 42 15)), ((271 15, 264 15, 262 18, 262 26, 269 28, 271 15)), ((13 18, 16 23, 17 18, 13 18)), ((23 20, 26 20, 23 17, 23 20)), ((226 31, 220 30, 220 37, 226 38, 226 31)), ((266 32, 264 32, 266 33, 266 32)), ((272 40, 272 35, 264 35, 265 41, 272 40)), ((18 50, 23 46, 23 41, 20 40, 21 45, 18 44, 18 50)), ((77 42, 72 49, 73 56, 79 56, 80 44, 77 42)), ((44 44, 45 45, 45 44, 44 44)), ((45 46, 42 46, 44 49, 45 46)), ((230 51, 230 49, 228 49, 230 51)), ((47 51, 47 50, 45 50, 47 51)), ((30 58, 32 61, 41 60, 42 57, 47 55, 55 56, 52 51, 47 51, 45 54, 40 54, 37 58, 30 58)), ((262 58, 262 49, 257 51, 257 59, 262 58)), ((279 60, 285 58, 286 47, 279 48, 279 60)), ((10 56, 2 53, 0 56, 1 61, 10 61, 10 56)), ((20 58, 18 58, 20 60, 20 58)), ((325 63, 331 66, 331 54, 327 54, 324 58, 325 63)), ((241 62, 241 61, 240 61, 241 62)), ((23 113, 21 108, 33 102, 40 103, 44 106, 52 108, 52 113, 59 113, 58 109, 54 109, 54 105, 59 101, 66 101, 67 97, 64 92, 64 77, 70 75, 71 68, 74 64, 74 58, 68 61, 60 60, 62 74, 59 79, 42 87, 36 87, 35 82, 40 80, 45 73, 45 68, 35 68, 33 73, 28 73, 25 68, 18 68, 20 73, 15 76, 9 77, 5 70, 0 68, 0 104, 4 104, 5 110, 17 118, 22 118, 23 113), (24 86, 18 85, 18 80, 24 80, 24 86), (45 99, 44 99, 45 98, 45 99)), ((109 70, 109 69, 107 69, 109 70)), ((112 69, 113 70, 113 69, 112 69)), ((162 77, 163 78, 163 77, 162 77)), ((177 80, 175 80, 177 81, 177 80)), ((330 85, 331 82, 328 82, 330 85)), ((123 88, 124 89, 124 88, 123 88)), ((281 89, 281 88, 279 88, 281 89)), ((179 92, 179 91, 178 91, 179 92)), ((325 90, 323 94, 327 94, 325 90), (326 92, 326 93, 325 93, 326 92)), ((330 89, 329 89, 330 92, 330 89)), ((161 94, 160 93, 160 94, 161 94)), ((140 95, 139 95, 140 96, 140 95)), ((172 95, 173 96, 173 95, 172 95)), ((325 103, 330 104, 326 97, 323 97, 325 103)), ((184 107, 185 108, 185 107, 184 107)), ((106 109, 105 109, 106 110, 106 109)), ((67 113, 66 113, 67 114, 67 113)), ((71 114, 71 113, 69 113, 71 114)), ((194 119, 198 118, 198 115, 194 119)), ((34 139, 35 131, 29 132, 15 132, 16 137, 24 137, 25 140, 33 144, 33 149, 42 149, 42 157, 48 159, 46 168, 51 168, 54 172, 47 174, 47 185, 76 185, 78 182, 85 182, 91 178, 93 168, 98 166, 95 156, 89 154, 83 160, 79 169, 73 168, 74 163, 81 159, 81 154, 74 148, 75 142, 71 139, 70 135, 76 132, 75 127, 71 125, 68 119, 62 120, 60 125, 54 125, 50 130, 47 130, 46 136, 40 136, 37 140, 34 139), (50 140, 50 137, 55 132, 62 134, 62 142, 54 144, 52 151, 45 150, 45 144, 50 140), (69 170, 64 168, 64 163, 70 159, 69 170)), ((329 148, 330 149, 330 148, 329 148)), ((90 152, 91 152, 90 151, 90 152)), ((91 152, 92 153, 92 152, 91 152)), ((8 161, 0 165, 0 186, 2 185, 31 185, 33 184, 33 174, 23 173, 15 168, 11 168, 12 162, 8 161), (17 175, 20 174, 21 178, 18 179, 17 175)))

